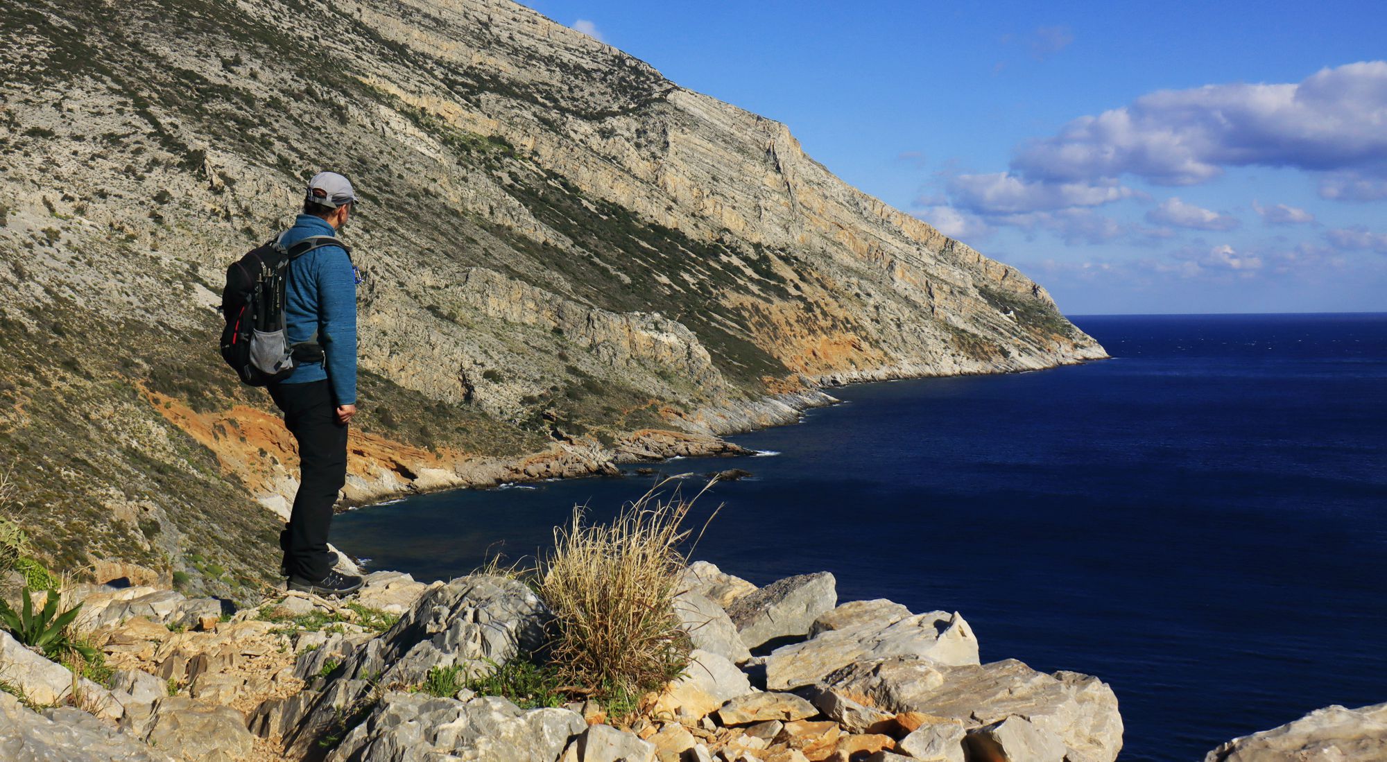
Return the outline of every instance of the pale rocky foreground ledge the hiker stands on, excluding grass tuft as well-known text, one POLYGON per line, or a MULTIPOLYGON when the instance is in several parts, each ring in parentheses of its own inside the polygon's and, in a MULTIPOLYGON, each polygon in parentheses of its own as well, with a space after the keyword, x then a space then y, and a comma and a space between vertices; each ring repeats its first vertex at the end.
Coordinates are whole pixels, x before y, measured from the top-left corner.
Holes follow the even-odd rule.
POLYGON ((0 755, 69 761, 1112 762, 1112 690, 1074 672, 981 664, 957 612, 838 604, 831 574, 756 586, 707 562, 684 572, 685 672, 630 726, 595 702, 522 709, 422 690, 485 673, 548 637, 522 582, 424 585, 376 572, 351 601, 297 593, 222 612, 153 587, 85 586, 80 626, 118 668, 108 684, 0 635, 0 755), (15 695, 17 694, 17 695, 15 695))

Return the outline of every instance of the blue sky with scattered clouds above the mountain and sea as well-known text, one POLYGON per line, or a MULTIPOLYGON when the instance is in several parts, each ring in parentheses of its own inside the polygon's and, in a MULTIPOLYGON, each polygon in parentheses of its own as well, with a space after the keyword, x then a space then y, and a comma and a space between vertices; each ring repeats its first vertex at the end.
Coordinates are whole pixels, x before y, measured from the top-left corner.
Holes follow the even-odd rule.
POLYGON ((1387 4, 530 0, 1069 313, 1387 310, 1387 4))

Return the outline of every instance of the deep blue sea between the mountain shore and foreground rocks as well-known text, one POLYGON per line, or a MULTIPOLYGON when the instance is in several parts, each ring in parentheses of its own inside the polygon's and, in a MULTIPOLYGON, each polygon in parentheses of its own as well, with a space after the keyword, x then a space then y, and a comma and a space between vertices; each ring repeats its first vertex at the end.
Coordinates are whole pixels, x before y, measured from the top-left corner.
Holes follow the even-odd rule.
MULTIPOLYGON (((1122 759, 1201 759, 1387 701, 1387 314, 1076 317, 1114 359, 832 389, 732 441, 779 454, 702 499, 694 556, 756 583, 957 610, 983 661, 1099 675, 1122 759)), ((377 568, 447 578, 545 546, 651 477, 437 493, 340 515, 377 568)), ((685 489, 702 482, 689 479, 685 489)))

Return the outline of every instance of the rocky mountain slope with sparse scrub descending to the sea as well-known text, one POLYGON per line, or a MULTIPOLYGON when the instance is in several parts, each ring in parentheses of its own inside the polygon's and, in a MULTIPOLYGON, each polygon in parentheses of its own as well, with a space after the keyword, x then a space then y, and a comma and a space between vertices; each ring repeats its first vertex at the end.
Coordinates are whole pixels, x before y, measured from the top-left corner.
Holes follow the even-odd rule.
POLYGON ((1104 356, 784 125, 509 0, 11 0, 0 96, 0 461, 64 568, 273 568, 293 443, 214 305, 323 168, 365 198, 356 500, 1104 356))

